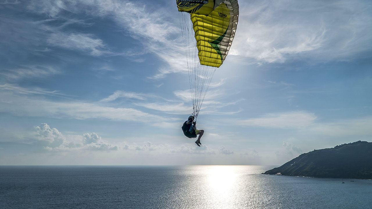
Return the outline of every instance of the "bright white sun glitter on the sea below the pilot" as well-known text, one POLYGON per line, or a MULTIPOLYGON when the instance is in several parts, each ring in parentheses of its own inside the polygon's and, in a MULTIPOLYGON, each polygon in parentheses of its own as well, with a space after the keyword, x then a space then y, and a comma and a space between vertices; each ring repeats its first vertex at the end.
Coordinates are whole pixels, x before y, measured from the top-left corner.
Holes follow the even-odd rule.
POLYGON ((240 165, 187 167, 188 175, 193 178, 186 181, 187 190, 182 199, 188 201, 179 202, 178 208, 264 208, 260 206, 264 197, 256 194, 260 190, 257 174, 265 169, 240 165), (247 197, 251 197, 251 201, 247 202, 247 197))

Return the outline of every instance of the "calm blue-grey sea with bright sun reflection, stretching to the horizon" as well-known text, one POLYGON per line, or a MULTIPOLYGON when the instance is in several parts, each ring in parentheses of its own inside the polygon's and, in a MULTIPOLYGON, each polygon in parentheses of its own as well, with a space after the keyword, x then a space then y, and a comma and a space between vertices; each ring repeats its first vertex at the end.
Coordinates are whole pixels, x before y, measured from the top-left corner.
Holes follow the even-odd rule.
POLYGON ((260 174, 271 168, 0 166, 0 208, 372 208, 372 181, 260 174))

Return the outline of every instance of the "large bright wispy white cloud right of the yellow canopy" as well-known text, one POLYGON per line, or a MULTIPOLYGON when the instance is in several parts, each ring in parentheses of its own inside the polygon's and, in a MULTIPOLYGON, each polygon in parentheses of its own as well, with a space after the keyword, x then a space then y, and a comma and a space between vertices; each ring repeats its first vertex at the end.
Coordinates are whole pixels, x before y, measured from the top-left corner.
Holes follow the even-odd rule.
POLYGON ((230 55, 247 64, 285 62, 298 56, 312 61, 356 58, 370 50, 365 44, 372 41, 365 35, 372 30, 366 2, 241 2, 230 55))

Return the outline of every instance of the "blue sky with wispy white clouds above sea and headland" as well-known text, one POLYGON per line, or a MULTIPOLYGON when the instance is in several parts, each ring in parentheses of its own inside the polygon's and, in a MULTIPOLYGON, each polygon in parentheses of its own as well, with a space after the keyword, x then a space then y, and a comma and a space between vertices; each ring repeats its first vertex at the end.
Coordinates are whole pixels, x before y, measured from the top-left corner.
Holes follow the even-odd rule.
POLYGON ((282 165, 372 142, 372 1, 239 6, 197 147, 174 0, 0 0, 0 165, 282 165))

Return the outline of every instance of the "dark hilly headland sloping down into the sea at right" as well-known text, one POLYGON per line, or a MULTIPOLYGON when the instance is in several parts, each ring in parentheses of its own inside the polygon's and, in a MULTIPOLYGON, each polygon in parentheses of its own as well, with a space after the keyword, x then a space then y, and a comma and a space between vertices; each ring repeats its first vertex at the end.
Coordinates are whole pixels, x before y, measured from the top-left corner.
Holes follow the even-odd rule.
POLYGON ((263 174, 372 179, 372 142, 357 141, 314 150, 263 174))

